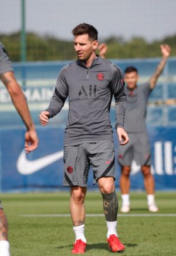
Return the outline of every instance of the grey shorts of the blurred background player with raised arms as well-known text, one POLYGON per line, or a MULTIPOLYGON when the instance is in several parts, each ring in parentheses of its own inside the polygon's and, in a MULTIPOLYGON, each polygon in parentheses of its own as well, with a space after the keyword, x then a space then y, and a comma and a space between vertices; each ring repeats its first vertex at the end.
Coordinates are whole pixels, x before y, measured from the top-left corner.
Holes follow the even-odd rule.
POLYGON ((136 161, 137 165, 151 165, 150 142, 147 132, 128 133, 128 144, 118 148, 118 162, 121 166, 131 166, 136 161))

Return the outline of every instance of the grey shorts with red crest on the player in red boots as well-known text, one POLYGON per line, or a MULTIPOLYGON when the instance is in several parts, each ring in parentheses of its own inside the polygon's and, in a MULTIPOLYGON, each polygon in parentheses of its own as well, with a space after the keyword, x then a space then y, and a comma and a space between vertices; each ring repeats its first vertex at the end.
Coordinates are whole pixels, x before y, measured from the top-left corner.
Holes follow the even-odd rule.
POLYGON ((101 177, 115 179, 115 156, 112 141, 83 142, 64 147, 64 186, 87 187, 90 166, 93 169, 93 184, 101 177))

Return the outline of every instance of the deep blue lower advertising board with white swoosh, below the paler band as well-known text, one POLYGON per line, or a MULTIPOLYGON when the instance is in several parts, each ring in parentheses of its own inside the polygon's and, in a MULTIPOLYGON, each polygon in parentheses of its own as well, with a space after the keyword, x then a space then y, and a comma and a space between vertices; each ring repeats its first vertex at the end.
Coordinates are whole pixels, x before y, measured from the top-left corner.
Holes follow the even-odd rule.
MULTIPOLYGON (((36 151, 23 151, 25 129, 1 129, 1 191, 12 189, 62 188, 63 139, 62 128, 39 128, 40 144, 36 151)), ((153 164, 151 171, 156 189, 175 189, 176 184, 176 128, 148 128, 153 164)), ((114 132, 116 151, 117 135, 114 132)), ((116 152, 117 156, 117 152, 116 152)), ((120 168, 116 161, 116 187, 119 187, 120 168)), ((93 186, 90 170, 89 187, 93 186)), ((140 167, 132 164, 131 189, 144 189, 140 167)))

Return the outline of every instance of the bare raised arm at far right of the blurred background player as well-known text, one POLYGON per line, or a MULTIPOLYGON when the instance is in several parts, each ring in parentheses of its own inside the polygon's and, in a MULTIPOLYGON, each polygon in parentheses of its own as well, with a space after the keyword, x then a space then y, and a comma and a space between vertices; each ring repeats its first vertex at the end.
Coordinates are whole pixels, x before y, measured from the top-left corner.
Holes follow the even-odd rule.
POLYGON ((158 65, 157 69, 155 70, 154 74, 150 78, 150 88, 151 89, 155 88, 155 85, 157 83, 157 79, 158 79, 158 77, 160 77, 160 75, 161 75, 161 73, 164 69, 164 66, 167 62, 167 59, 170 56, 170 51, 171 51, 170 46, 160 45, 160 47, 161 47, 161 53, 163 55, 163 58, 161 59, 161 61, 158 65))

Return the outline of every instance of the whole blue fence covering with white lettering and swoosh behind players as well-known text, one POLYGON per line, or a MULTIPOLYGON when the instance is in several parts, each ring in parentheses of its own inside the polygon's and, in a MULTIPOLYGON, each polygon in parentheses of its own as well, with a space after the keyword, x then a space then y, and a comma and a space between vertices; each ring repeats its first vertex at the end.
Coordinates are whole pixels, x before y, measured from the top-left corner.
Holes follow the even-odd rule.
MULTIPOLYGON (((148 81, 157 67, 159 58, 112 60, 124 70, 127 66, 137 67, 139 85, 148 81)), ((36 151, 26 155, 23 151, 25 126, 12 105, 4 85, 0 85, 0 191, 24 191, 24 189, 62 188, 63 138, 67 121, 68 102, 48 127, 39 124, 39 113, 48 107, 57 75, 65 62, 15 63, 13 68, 19 84, 28 99, 40 144, 36 151)), ((176 184, 176 106, 164 105, 168 99, 176 98, 176 58, 170 58, 157 87, 151 93, 147 127, 151 142, 153 165, 151 171, 156 189, 175 189, 176 184)), ((114 102, 110 118, 115 122, 114 102)), ((116 151, 118 150, 114 132, 116 151)), ((117 152, 116 152, 117 155, 117 152)), ((120 168, 116 162, 116 186, 119 186, 120 168)), ((93 174, 90 169, 88 185, 92 188, 93 174)), ((131 189, 144 189, 143 177, 136 162, 132 164, 131 189)))

